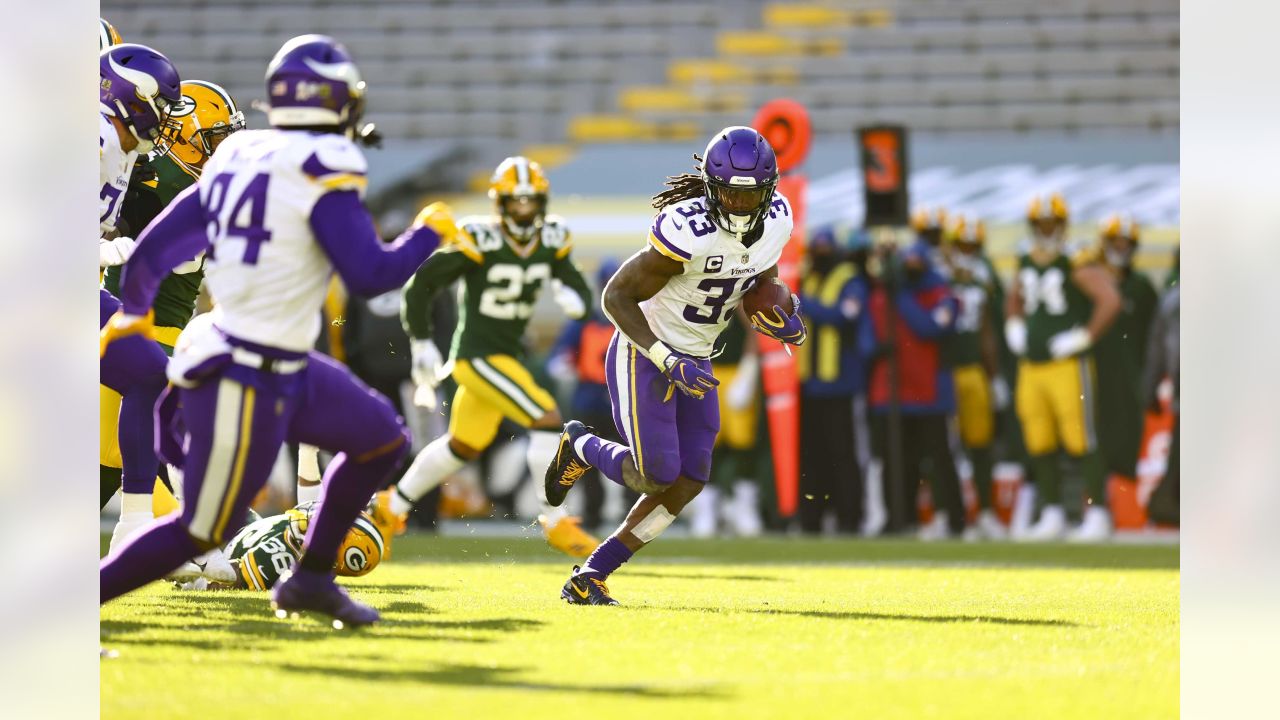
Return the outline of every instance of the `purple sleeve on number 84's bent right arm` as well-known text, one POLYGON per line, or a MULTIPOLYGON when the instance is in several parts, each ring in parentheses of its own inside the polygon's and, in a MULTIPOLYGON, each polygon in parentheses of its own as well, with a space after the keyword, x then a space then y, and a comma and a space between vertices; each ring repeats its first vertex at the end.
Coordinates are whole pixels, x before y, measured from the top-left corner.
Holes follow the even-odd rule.
POLYGON ((364 297, 403 286, 440 245, 439 236, 426 227, 410 228, 383 245, 353 190, 321 195, 311 209, 311 232, 347 290, 364 297))

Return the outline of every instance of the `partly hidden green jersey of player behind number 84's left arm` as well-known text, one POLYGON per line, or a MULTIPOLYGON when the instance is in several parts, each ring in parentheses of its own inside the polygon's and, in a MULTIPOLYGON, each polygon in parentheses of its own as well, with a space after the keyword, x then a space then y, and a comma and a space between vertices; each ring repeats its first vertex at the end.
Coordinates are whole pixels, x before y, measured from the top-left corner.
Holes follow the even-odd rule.
MULTIPOLYGON (((174 197, 196 178, 168 156, 148 163, 148 172, 134 170, 134 181, 129 183, 124 208, 120 215, 131 233, 137 236, 147 224, 165 209, 174 197), (148 177, 154 176, 154 177, 148 177)), ((184 263, 160 283, 152 309, 157 328, 184 328, 196 314, 196 299, 200 296, 200 283, 205 277, 205 260, 200 258, 184 263)), ((108 268, 102 275, 102 287, 111 295, 120 295, 120 268, 108 268)), ((163 343, 161 343, 163 345, 163 343)), ((165 346, 166 352, 172 352, 165 346)))

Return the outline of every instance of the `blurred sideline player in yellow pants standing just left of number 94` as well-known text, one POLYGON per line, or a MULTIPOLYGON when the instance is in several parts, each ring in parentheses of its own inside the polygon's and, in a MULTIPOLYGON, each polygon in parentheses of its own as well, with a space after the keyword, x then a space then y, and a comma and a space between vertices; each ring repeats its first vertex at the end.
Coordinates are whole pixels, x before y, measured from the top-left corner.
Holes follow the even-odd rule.
POLYGON ((1000 375, 991 310, 996 300, 996 279, 982 254, 986 234, 982 220, 963 215, 947 228, 951 292, 960 301, 960 313, 955 333, 947 338, 943 352, 955 377, 960 442, 973 464, 973 484, 978 491, 974 530, 987 539, 1004 539, 1007 533, 996 518, 992 502, 992 470, 996 410, 1009 405, 1009 386, 1000 375))

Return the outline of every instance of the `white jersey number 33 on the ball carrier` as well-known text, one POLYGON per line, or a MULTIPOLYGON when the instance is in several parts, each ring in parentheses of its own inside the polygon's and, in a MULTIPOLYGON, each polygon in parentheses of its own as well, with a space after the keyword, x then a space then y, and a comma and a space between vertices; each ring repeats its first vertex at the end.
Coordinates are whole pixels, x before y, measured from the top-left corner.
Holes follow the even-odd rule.
POLYGON ((721 229, 707 214, 707 200, 667 205, 649 231, 649 245, 685 265, 657 295, 640 304, 649 327, 673 350, 708 357, 754 278, 782 258, 791 240, 791 204, 773 193, 764 232, 750 247, 721 229))

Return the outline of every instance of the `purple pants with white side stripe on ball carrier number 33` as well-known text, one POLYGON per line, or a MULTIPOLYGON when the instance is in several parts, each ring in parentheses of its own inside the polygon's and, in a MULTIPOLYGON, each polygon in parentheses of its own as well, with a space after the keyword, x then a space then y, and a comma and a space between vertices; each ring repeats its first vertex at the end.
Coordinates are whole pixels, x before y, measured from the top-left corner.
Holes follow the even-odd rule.
MULTIPOLYGON (((710 360, 698 364, 712 370, 710 360)), ((604 366, 613 424, 631 447, 636 469, 663 484, 680 475, 705 483, 719 432, 717 391, 698 400, 672 388, 667 375, 620 333, 613 333, 604 366)))

